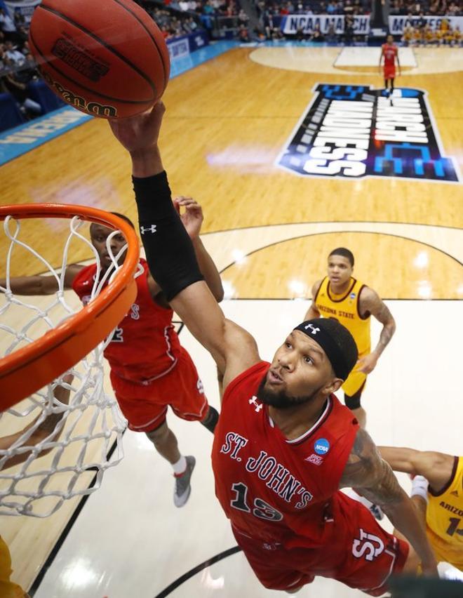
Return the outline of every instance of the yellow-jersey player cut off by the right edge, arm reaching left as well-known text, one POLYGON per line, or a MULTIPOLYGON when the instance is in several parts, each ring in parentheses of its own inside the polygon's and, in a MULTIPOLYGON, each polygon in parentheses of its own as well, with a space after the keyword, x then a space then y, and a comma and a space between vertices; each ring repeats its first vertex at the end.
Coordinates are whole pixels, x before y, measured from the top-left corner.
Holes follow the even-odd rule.
POLYGON ((415 476, 412 501, 438 561, 463 571, 463 457, 380 446, 393 470, 415 476))

